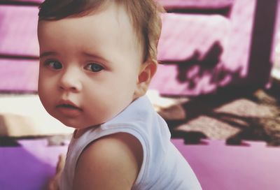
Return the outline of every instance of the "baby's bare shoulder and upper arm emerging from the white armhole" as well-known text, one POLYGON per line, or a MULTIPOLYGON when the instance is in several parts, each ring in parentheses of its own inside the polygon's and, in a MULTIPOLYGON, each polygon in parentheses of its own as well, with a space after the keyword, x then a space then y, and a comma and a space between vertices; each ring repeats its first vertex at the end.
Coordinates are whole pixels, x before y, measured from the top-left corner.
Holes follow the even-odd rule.
POLYGON ((101 138, 80 155, 73 189, 132 189, 142 160, 141 143, 130 134, 101 138))

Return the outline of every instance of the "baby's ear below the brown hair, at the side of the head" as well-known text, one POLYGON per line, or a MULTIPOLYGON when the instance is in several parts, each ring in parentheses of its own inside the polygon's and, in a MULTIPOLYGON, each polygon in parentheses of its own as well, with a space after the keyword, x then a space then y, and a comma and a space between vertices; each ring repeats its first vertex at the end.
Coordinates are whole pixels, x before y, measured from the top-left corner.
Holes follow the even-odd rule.
POLYGON ((151 61, 150 59, 141 65, 138 75, 137 89, 135 89, 134 92, 134 98, 138 98, 146 94, 148 86, 150 85, 157 68, 158 64, 154 61, 151 61))

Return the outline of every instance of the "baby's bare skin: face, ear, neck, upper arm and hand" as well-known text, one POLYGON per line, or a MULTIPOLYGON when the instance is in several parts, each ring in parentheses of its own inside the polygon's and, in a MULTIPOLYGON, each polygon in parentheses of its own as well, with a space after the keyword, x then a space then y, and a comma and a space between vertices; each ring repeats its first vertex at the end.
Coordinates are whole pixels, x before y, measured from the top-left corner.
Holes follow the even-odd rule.
MULTIPOLYGON (((50 115, 76 129, 74 138, 143 96, 157 68, 143 61, 129 15, 115 3, 83 17, 40 21, 38 41, 39 97, 50 115)), ((127 133, 92 142, 80 155, 73 189, 131 189, 142 152, 127 133)))

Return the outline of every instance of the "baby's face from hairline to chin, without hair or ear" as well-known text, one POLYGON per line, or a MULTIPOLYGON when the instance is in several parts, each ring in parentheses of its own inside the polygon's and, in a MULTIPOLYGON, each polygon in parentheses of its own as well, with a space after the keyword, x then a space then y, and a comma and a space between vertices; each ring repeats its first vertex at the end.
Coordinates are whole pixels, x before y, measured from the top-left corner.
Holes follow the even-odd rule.
POLYGON ((124 8, 40 21, 38 41, 38 94, 60 122, 102 124, 133 101, 142 50, 124 8))

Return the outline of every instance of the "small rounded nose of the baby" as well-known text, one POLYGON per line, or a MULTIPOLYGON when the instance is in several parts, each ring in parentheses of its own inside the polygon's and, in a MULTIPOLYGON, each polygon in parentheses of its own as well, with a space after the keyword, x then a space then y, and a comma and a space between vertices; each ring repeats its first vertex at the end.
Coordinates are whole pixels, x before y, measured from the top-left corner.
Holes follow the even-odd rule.
POLYGON ((80 92, 82 84, 78 71, 73 68, 65 69, 59 81, 59 89, 69 92, 80 92))

